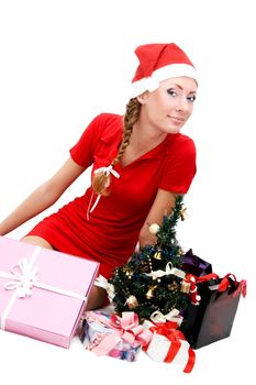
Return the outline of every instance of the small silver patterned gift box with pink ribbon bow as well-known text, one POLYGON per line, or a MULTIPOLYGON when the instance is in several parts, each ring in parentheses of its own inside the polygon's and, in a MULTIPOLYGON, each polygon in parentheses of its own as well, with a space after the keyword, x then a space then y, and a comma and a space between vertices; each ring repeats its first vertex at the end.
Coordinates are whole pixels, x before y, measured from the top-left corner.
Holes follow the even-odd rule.
POLYGON ((149 342, 152 332, 138 324, 133 311, 122 317, 102 311, 86 311, 81 342, 97 355, 109 355, 129 362, 136 361, 141 346, 149 342))

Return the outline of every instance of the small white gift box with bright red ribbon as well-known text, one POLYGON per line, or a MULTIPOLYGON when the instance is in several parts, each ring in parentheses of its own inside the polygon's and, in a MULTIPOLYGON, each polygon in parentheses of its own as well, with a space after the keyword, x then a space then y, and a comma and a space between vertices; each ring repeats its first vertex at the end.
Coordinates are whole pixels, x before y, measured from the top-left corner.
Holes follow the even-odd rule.
POLYGON ((196 354, 188 341, 186 341, 183 333, 177 329, 177 322, 167 321, 165 323, 154 324, 145 320, 143 327, 153 332, 151 342, 143 348, 152 360, 168 363, 174 362, 183 366, 185 373, 192 371, 196 354))

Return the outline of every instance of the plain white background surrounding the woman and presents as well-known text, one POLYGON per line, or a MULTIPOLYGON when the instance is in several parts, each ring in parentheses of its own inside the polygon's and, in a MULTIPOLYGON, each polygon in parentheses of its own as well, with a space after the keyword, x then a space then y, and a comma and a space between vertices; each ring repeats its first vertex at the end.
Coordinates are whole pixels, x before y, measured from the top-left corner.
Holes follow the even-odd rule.
MULTIPOLYGON (((1 0, 0 220, 66 161, 100 112, 123 113, 140 44, 176 42, 200 74, 194 114, 183 132, 198 147, 198 174, 178 237, 214 271, 247 278, 231 338, 197 351, 190 375, 151 361, 97 359, 0 333, 7 384, 240 384, 253 373, 255 267, 254 1, 1 0), (33 374, 32 372, 35 371, 33 374)), ((49 212, 82 194, 88 174, 49 212)), ((40 216, 40 218, 43 218, 40 216)), ((40 218, 9 234, 20 239, 40 218)))

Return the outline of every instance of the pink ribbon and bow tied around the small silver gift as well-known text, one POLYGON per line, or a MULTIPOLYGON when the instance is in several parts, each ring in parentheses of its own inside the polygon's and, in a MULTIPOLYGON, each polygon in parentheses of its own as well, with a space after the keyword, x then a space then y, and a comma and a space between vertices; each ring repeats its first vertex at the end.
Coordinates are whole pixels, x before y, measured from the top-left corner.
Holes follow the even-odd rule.
POLYGON ((100 322, 114 330, 111 333, 97 334, 97 342, 94 341, 90 346, 90 350, 97 355, 107 355, 121 341, 125 341, 136 348, 148 344, 152 339, 152 331, 145 330, 142 324, 138 324, 138 317, 133 311, 124 311, 122 317, 112 315, 110 318, 101 314, 87 311, 86 319, 89 322, 100 322))

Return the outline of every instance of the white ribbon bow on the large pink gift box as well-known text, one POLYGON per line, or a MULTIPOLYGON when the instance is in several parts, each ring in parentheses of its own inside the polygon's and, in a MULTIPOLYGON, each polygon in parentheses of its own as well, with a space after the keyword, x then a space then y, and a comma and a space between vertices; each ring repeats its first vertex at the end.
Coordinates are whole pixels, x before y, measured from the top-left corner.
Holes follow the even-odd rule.
POLYGON ((11 275, 14 280, 5 283, 4 288, 7 290, 16 289, 19 298, 24 298, 32 295, 32 287, 37 280, 38 268, 31 268, 26 258, 22 258, 16 265, 11 268, 11 275))

